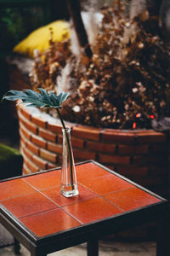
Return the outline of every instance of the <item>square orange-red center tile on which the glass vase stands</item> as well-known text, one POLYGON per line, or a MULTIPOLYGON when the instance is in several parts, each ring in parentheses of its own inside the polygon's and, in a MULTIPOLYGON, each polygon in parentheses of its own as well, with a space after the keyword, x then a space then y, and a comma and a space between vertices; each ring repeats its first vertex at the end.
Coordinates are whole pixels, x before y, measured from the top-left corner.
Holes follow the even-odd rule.
POLYGON ((84 201, 90 198, 94 198, 96 195, 94 192, 90 191, 89 189, 83 187, 81 184, 78 184, 79 195, 72 196, 72 197, 65 197, 61 195, 59 192, 60 187, 54 187, 50 189, 42 190, 42 193, 55 203, 57 203, 60 207, 70 205, 77 201, 84 201))

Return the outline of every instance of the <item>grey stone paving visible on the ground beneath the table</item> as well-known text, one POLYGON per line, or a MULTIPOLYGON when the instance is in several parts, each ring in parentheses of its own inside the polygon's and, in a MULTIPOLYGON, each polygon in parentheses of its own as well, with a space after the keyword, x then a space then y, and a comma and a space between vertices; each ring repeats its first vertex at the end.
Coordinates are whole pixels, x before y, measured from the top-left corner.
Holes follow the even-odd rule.
MULTIPOLYGON (((20 256, 30 256, 25 247, 21 247, 20 256)), ((4 247, 0 249, 1 256, 16 256, 13 247, 4 247)), ((48 254, 50 256, 87 256, 86 244, 77 247, 71 247, 63 251, 48 254)), ((156 256, 156 242, 99 242, 99 256, 156 256)))

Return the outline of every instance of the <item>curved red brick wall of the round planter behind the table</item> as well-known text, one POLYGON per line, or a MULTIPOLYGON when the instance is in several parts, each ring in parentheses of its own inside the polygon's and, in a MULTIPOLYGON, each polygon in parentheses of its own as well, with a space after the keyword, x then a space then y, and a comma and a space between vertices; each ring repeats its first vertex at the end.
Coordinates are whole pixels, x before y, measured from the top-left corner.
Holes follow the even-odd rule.
MULTIPOLYGON (((61 166, 60 124, 50 124, 18 106, 24 173, 61 166)), ((156 131, 120 131, 69 123, 75 161, 97 160, 167 197, 167 136, 156 131)))

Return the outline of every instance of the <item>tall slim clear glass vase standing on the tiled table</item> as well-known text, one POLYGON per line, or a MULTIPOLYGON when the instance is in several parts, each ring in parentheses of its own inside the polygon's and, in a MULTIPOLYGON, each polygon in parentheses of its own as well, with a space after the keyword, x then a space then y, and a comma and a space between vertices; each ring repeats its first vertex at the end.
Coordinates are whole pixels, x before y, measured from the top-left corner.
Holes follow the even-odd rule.
POLYGON ((63 154, 60 193, 65 197, 78 195, 77 175, 71 146, 71 128, 63 131, 63 154))

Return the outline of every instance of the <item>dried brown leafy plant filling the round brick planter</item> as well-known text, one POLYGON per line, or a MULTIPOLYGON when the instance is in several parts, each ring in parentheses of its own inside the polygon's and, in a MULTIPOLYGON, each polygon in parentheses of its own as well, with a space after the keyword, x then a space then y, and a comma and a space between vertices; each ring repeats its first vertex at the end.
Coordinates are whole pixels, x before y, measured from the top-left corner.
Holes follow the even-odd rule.
POLYGON ((81 49, 77 57, 70 39, 51 41, 48 51, 35 59, 32 87, 70 90, 69 104, 62 108, 69 121, 150 129, 153 119, 170 113, 169 51, 158 16, 144 9, 131 19, 122 1, 100 12, 92 55, 81 49))

